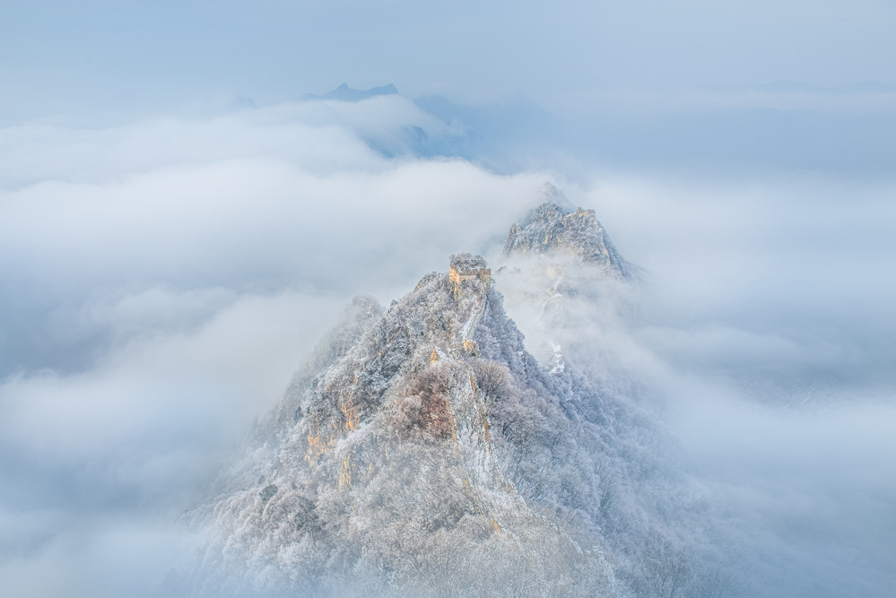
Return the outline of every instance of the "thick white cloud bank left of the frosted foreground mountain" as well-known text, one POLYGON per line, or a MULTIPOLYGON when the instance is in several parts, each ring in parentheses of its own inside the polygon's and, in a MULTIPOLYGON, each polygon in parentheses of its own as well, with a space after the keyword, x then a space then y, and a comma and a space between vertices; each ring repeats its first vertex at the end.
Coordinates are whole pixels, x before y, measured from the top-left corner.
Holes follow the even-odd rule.
POLYGON ((4 131, 0 570, 14 594, 152 589, 183 548, 178 511, 352 295, 407 292, 539 196, 543 175, 387 160, 344 124, 367 119, 387 143, 409 117, 396 97, 4 131))

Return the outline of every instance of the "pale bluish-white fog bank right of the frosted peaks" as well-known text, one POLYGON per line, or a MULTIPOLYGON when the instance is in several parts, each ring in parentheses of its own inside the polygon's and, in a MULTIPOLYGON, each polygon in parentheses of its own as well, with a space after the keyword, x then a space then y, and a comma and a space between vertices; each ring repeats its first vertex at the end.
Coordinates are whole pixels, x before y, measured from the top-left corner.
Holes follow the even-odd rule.
POLYGON ((763 595, 888 595, 892 186, 621 179, 589 198, 648 271, 610 359, 665 394, 763 595))

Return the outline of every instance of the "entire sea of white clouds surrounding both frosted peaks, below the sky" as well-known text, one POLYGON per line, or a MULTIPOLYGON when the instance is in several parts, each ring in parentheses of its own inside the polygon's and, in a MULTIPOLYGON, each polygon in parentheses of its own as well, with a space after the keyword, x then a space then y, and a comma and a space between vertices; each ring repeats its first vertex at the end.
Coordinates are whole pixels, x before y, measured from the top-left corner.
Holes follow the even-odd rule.
POLYGON ((0 129, 4 588, 150 594, 193 549, 178 513, 344 304, 494 255, 550 181, 644 269, 638 314, 592 332, 662 402, 766 595, 886 595, 896 185, 567 178, 562 151, 494 169, 470 139, 400 95, 0 129))

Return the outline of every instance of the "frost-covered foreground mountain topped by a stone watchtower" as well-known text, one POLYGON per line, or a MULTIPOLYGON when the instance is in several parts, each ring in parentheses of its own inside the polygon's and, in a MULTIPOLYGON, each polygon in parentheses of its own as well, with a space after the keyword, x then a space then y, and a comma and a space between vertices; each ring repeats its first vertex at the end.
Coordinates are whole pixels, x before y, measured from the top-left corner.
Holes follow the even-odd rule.
POLYGON ((656 417, 539 364, 482 257, 448 271, 346 308, 188 515, 188 595, 650 595, 645 559, 697 583, 700 534, 659 522, 703 498, 656 417))

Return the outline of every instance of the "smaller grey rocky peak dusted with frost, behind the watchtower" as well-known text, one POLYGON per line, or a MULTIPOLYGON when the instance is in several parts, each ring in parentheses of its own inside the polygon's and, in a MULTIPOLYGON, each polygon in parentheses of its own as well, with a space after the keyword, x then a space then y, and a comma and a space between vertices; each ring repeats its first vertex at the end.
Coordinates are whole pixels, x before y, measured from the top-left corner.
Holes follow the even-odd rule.
POLYGON ((605 266, 623 277, 631 276, 629 264, 613 247, 594 210, 578 208, 571 212, 558 204, 541 204, 523 225, 510 227, 504 243, 505 256, 552 250, 571 252, 584 263, 605 266))

